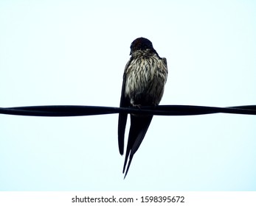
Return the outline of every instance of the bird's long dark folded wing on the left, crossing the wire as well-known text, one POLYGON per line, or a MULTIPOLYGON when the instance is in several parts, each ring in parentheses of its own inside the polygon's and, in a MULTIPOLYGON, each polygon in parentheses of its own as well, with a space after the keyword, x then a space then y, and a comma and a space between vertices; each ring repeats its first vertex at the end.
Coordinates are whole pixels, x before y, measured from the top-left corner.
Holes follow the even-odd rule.
MULTIPOLYGON (((125 72, 122 79, 122 93, 121 93, 120 107, 129 106, 128 99, 125 98, 126 70, 128 68, 129 62, 125 66, 125 72)), ((121 155, 123 154, 123 150, 124 150, 125 127, 127 122, 127 116, 128 116, 127 113, 120 113, 118 118, 118 146, 119 146, 119 152, 121 155)))

